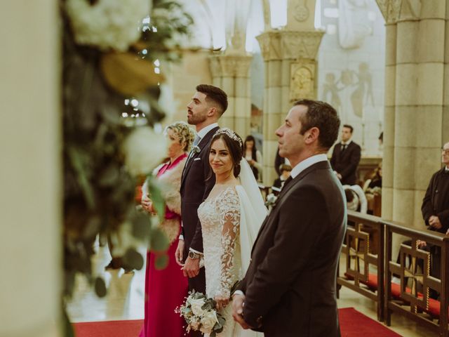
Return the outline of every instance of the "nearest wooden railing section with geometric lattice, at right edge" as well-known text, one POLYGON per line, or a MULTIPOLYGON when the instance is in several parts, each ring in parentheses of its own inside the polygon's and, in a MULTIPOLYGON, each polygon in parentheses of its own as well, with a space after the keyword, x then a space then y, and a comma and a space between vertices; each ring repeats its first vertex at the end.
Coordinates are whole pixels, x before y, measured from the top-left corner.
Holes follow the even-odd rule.
POLYGON ((415 230, 394 222, 384 222, 385 265, 384 265, 384 313, 385 323, 391 324, 391 313, 398 312, 419 324, 438 331, 439 336, 449 336, 449 237, 429 230, 415 230), (408 237, 411 242, 401 244, 399 261, 391 255, 394 234, 408 237), (429 249, 420 248, 424 241, 429 249), (438 263, 435 252, 441 252, 441 276, 431 275, 432 263, 438 263), (401 279, 399 286, 391 282, 392 275, 401 279), (394 289, 394 287, 396 289, 394 289), (396 292, 396 294, 394 293, 396 292), (430 298, 430 293, 439 294, 439 300, 430 298))

